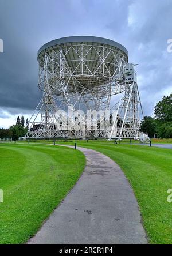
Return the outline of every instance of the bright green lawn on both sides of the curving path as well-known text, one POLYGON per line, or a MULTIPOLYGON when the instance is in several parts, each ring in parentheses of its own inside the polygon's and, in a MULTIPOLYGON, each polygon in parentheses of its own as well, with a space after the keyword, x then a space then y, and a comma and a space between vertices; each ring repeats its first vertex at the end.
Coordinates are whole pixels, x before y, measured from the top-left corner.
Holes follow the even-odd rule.
MULTIPOLYGON (((172 188, 172 150, 132 144, 116 145, 113 141, 88 141, 87 143, 87 141, 77 140, 76 142, 77 146, 104 153, 120 165, 134 189, 149 242, 152 244, 172 244, 172 203, 167 202, 167 190, 172 188)), ((53 144, 52 141, 49 143, 53 144)), ((59 143, 74 145, 75 140, 70 142, 63 140, 59 143)), ((42 221, 56 206, 57 201, 60 202, 61 198, 75 183, 83 169, 84 157, 77 150, 74 150, 75 153, 73 153, 71 149, 58 148, 53 145, 38 146, 38 144, 24 145, 23 143, 16 144, 16 146, 15 144, 10 145, 0 144, 0 149, 3 148, 3 155, 1 154, 3 169, 1 168, 1 170, 6 170, 6 173, 9 174, 4 175, 3 171, 0 179, 2 184, 0 188, 4 187, 4 190, 8 191, 5 193, 5 203, 0 204, 0 209, 3 209, 1 214, 3 219, 0 221, 0 232, 3 231, 1 243, 20 243, 36 232, 42 221), (41 157, 38 157, 40 154, 41 157), (43 156, 44 154, 48 155, 47 159, 43 157, 43 163, 42 154, 43 156), (82 167, 80 167, 80 159, 82 160, 82 167), (51 164, 50 160, 54 164, 51 164), (37 164, 37 168, 35 168, 34 162, 37 164), (58 182, 57 179, 54 180, 56 175, 51 167, 54 165, 59 168, 55 168, 58 175, 62 175, 58 182), (77 175, 74 177, 75 165, 77 175), (13 169, 10 168, 11 166, 13 169), (50 172, 49 176, 47 176, 47 170, 50 172), (69 173, 71 172, 70 178, 69 173), (48 180, 48 183, 42 182, 45 180, 48 180), (64 187, 65 182, 68 183, 67 189, 64 187), (30 186, 30 183, 33 185, 30 186), (22 193, 23 187, 25 187, 25 193, 22 193), (58 200, 57 194, 60 195, 58 200), (16 198, 17 202, 15 202, 16 198), (26 212, 32 213, 34 219, 31 214, 26 216, 26 212), (9 220, 10 223, 8 223, 9 220), (26 223, 27 220, 28 223, 26 223), (11 240, 11 236, 13 240, 11 240)))

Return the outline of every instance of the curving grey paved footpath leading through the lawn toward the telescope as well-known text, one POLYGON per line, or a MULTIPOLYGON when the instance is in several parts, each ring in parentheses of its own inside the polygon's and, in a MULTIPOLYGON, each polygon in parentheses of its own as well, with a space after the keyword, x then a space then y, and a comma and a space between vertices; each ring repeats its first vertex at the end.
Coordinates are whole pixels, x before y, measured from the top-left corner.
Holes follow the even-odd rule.
POLYGON ((28 244, 146 244, 128 180, 109 157, 86 148, 76 185, 28 244))

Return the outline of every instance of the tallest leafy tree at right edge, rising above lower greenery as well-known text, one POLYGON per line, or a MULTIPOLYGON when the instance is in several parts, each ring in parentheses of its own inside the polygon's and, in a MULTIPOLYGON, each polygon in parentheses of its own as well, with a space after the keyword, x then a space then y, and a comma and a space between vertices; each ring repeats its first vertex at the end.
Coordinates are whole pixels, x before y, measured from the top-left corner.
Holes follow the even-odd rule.
POLYGON ((155 108, 155 119, 160 122, 172 121, 172 94, 163 96, 162 101, 159 101, 155 108))

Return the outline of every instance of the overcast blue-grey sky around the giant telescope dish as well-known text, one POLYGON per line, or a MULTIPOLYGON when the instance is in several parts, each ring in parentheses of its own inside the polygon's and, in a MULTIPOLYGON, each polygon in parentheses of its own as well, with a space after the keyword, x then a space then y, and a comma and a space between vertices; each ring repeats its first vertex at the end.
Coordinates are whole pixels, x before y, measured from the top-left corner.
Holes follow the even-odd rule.
POLYGON ((0 0, 0 127, 32 114, 40 100, 38 48, 65 36, 106 37, 138 63, 144 115, 172 92, 171 0, 0 0))

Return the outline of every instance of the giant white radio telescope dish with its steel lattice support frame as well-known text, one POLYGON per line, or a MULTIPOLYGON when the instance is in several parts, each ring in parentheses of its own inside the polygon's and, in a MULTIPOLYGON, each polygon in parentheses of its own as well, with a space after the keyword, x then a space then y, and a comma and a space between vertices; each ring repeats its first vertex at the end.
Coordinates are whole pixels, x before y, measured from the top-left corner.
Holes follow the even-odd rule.
POLYGON ((134 65, 120 44, 65 37, 40 48, 42 99, 26 138, 139 138, 142 106, 134 65), (119 100, 111 106, 115 97, 119 100))

